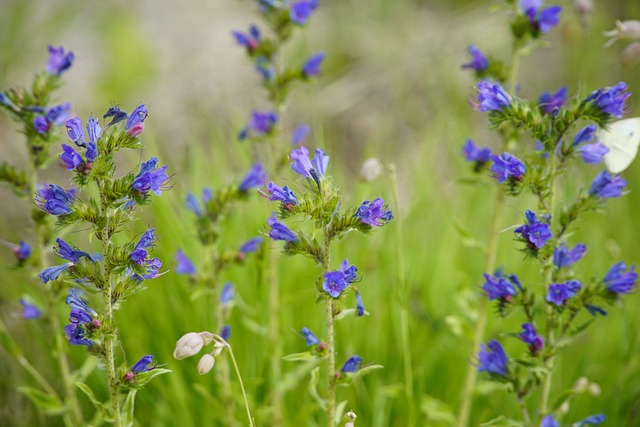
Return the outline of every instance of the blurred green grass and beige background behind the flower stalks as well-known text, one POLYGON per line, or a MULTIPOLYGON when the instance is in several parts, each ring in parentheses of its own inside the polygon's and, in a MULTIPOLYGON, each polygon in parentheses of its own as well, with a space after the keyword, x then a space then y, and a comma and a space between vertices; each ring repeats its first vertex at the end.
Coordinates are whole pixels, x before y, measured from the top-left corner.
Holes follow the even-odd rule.
MULTIPOLYGON (((567 85, 570 93, 591 90, 620 80, 630 84, 631 115, 640 106, 640 68, 622 68, 618 42, 603 47, 602 31, 616 19, 640 19, 640 2, 601 1, 585 29, 569 1, 561 25, 549 35, 548 45, 522 61, 520 95, 537 98, 542 91, 567 85)), ((486 240, 493 199, 490 186, 467 185, 460 178, 471 172, 461 158, 465 138, 482 145, 497 144, 486 130, 486 116, 468 105, 473 79, 460 64, 468 60, 473 43, 494 56, 508 58, 508 19, 493 12, 494 2, 321 0, 309 31, 290 47, 288 55, 324 50, 323 76, 300 86, 289 104, 284 128, 301 122, 312 124, 309 146, 322 146, 331 156, 331 174, 344 190, 344 204, 354 206, 364 198, 392 197, 391 182, 381 177, 373 183, 358 180, 360 165, 375 156, 394 163, 399 175, 400 203, 392 206, 396 221, 373 237, 350 235, 336 245, 334 259, 348 257, 363 274, 360 290, 371 316, 338 324, 337 363, 357 353, 365 363, 379 363, 376 371, 350 389, 340 389, 338 400, 358 414, 357 425, 407 425, 409 405, 415 405, 420 426, 447 426, 447 407, 457 406, 463 377, 470 363, 469 333, 473 307, 484 265, 474 242, 461 236, 460 227, 486 240), (402 221, 403 235, 397 233, 402 221), (399 238, 404 241, 398 252, 399 238), (413 396, 403 394, 403 355, 400 347, 398 306, 398 256, 404 257, 410 289, 410 336, 413 396), (439 401, 446 402, 443 404, 439 401)), ((239 179, 250 165, 250 149, 236 134, 251 109, 266 108, 259 80, 230 32, 246 29, 259 19, 250 0, 167 0, 137 2, 2 0, 0 2, 0 88, 28 84, 46 62, 48 44, 63 45, 76 54, 65 75, 59 101, 70 101, 80 117, 101 115, 112 104, 131 110, 144 102, 150 112, 141 155, 158 155, 170 163, 175 187, 145 208, 144 220, 132 232, 153 225, 160 242, 154 254, 174 268, 173 257, 183 248, 194 260, 202 256, 195 244, 192 216, 183 208, 187 191, 214 189, 239 179)), ((20 163, 26 159, 15 124, 0 116, 0 156, 20 163)), ((124 158, 124 167, 138 157, 124 158)), ((578 183, 589 182, 598 169, 582 167, 571 172, 567 194, 578 183)), ((49 182, 66 185, 69 175, 53 164, 44 174, 49 182)), ((639 261, 637 249, 640 162, 626 172, 630 194, 608 203, 606 214, 589 214, 578 222, 573 238, 590 248, 580 266, 583 277, 601 277, 620 259, 639 261)), ((279 182, 294 180, 290 171, 279 182)), ((27 200, 16 201, 0 187, 2 222, 0 238, 9 242, 30 240, 27 200)), ((518 224, 532 199, 508 202, 504 229, 518 224)), ((255 197, 237 205, 225 220, 223 245, 235 247, 264 230, 273 206, 255 197)), ((80 233, 68 235, 81 239, 80 233)), ((270 243, 273 244, 273 243, 270 243)), ((273 244, 277 246, 277 244, 273 244)), ((517 272, 523 281, 538 280, 536 267, 515 250, 512 233, 500 237, 499 264, 517 272)), ((10 267, 13 255, 0 248, 0 315, 29 359, 49 372, 46 326, 16 318, 18 299, 38 296, 37 279, 10 267)), ((225 273, 234 282, 242 302, 231 320, 231 344, 248 386, 258 425, 270 425, 268 401, 269 350, 265 336, 268 321, 267 289, 258 280, 258 266, 247 263, 225 273)), ((280 260, 282 287, 282 337, 285 354, 304 351, 295 333, 307 326, 322 336, 323 308, 315 304, 313 280, 318 272, 307 259, 280 260)), ((148 289, 131 298, 118 313, 120 336, 129 361, 154 354, 173 370, 154 380, 138 394, 139 425, 218 425, 222 412, 215 374, 200 377, 197 359, 173 360, 175 341, 189 331, 215 328, 214 301, 191 301, 186 278, 173 272, 148 283, 148 289)), ((597 382, 600 396, 581 395, 572 401, 565 422, 605 412, 606 425, 640 425, 640 317, 637 295, 598 319, 557 361, 553 393, 571 387, 586 376, 597 382)), ((61 318, 68 315, 60 307, 61 318)), ((522 319, 492 320, 487 337, 518 332, 522 319)), ((503 337, 508 353, 519 354, 522 344, 503 337)), ((75 366, 85 359, 83 348, 70 352, 75 366)), ((283 362, 285 373, 297 366, 283 362)), ((214 369, 215 371, 215 369, 214 369)), ((60 425, 56 418, 39 415, 15 391, 32 380, 0 349, 0 425, 60 425)), ((98 371, 89 384, 106 399, 98 371)), ((84 397, 81 397, 84 399, 84 397)), ((88 401, 83 400, 87 413, 88 401)), ((286 425, 314 426, 322 419, 307 394, 306 379, 288 390, 284 398, 286 425)), ((241 407, 239 406, 239 409, 241 407)), ((480 382, 472 412, 472 425, 507 411, 516 415, 513 397, 491 383, 480 382)), ((244 423, 242 413, 238 419, 244 423)))

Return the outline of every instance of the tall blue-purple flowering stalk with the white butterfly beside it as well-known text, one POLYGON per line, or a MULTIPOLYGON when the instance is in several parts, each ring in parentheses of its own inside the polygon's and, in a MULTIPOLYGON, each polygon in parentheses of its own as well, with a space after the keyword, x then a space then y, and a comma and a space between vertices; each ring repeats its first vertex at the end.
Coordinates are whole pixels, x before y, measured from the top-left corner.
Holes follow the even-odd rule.
MULTIPOLYGON (((544 12, 525 10, 528 17, 544 16, 544 12)), ((535 150, 523 147, 518 156, 504 152, 489 157, 491 175, 505 194, 530 192, 537 199, 536 210, 525 210, 514 237, 528 259, 539 264, 541 278, 521 280, 513 269, 499 269, 485 272, 482 287, 500 317, 522 311, 526 323, 519 334, 513 331, 513 335, 525 344, 525 355, 510 359, 500 342, 491 340, 486 346, 480 345, 474 367, 488 373, 490 379, 510 385, 524 425, 558 425, 558 407, 549 404, 556 355, 596 316, 606 314, 603 304, 620 301, 636 286, 635 267, 627 267, 624 262, 611 267, 602 279, 581 277, 579 266, 586 246, 570 244, 568 233, 580 215, 623 195, 626 181, 605 170, 591 183, 584 183, 577 196, 564 194, 559 186, 570 165, 599 163, 604 153, 594 161, 593 153, 585 158, 584 147, 593 140, 597 127, 605 127, 623 115, 629 96, 627 85, 621 82, 583 98, 570 99, 566 90, 560 90, 530 102, 507 94, 497 83, 478 83, 477 102, 472 103, 476 110, 487 112, 493 126, 521 128, 537 141, 535 150), (593 124, 576 130, 578 122, 593 124), (533 413, 532 396, 538 397, 533 413)), ((478 154, 481 150, 468 146, 466 151, 478 154)), ((559 400, 562 403, 567 398, 559 400)), ((604 415, 600 414, 577 424, 602 421, 604 415)))

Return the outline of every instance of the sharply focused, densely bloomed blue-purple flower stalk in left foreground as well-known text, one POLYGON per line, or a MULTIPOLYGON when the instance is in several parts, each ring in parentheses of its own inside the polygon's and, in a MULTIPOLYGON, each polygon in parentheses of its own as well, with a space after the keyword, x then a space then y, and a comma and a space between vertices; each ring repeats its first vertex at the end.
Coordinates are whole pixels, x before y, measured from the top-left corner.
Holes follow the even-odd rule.
POLYGON ((79 118, 66 122, 74 146, 63 145, 60 158, 72 171, 80 190, 44 184, 36 195, 36 205, 44 213, 57 217, 59 227, 88 224, 100 242, 100 252, 89 254, 58 238, 54 253, 65 262, 45 268, 39 277, 48 286, 68 288, 73 284, 66 297, 70 323, 64 328, 65 334, 70 344, 86 346, 87 353, 101 361, 109 384, 109 399, 100 402, 87 385, 79 382, 77 386, 95 405, 98 419, 109 418, 114 425, 125 426, 133 422, 138 389, 169 371, 157 368, 152 355, 133 365, 118 360, 122 350, 115 311, 141 290, 145 281, 160 274, 162 262, 150 255, 156 243, 153 228, 126 243, 119 243, 121 238, 116 241, 115 237, 135 220, 138 205, 149 203, 151 194, 160 195, 168 188, 170 177, 167 166, 159 167, 155 157, 124 177, 116 177, 114 154, 122 149, 142 148, 139 135, 147 117, 144 105, 131 114, 111 107, 103 117, 104 133, 94 117, 87 120, 86 134, 79 118), (87 191, 89 187, 95 192, 87 191), (100 304, 85 299, 83 295, 88 297, 90 293, 102 297, 100 304))

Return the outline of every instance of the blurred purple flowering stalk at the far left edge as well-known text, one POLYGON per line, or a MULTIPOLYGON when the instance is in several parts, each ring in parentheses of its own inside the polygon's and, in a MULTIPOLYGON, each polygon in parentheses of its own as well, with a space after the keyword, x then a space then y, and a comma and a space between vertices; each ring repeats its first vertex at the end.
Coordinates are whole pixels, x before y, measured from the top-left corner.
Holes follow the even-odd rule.
MULTIPOLYGON (((71 104, 54 105, 52 98, 55 90, 62 84, 62 75, 72 66, 73 61, 73 52, 65 51, 62 47, 49 46, 49 58, 45 70, 36 75, 30 88, 0 91, 0 108, 20 123, 21 132, 26 136, 28 163, 25 169, 10 165, 8 162, 0 164, 0 182, 7 184, 20 197, 31 198, 38 191, 38 171, 49 165, 52 154, 51 147, 54 146, 60 135, 59 128, 69 118, 71 104)), ((15 246, 14 253, 19 266, 32 267, 34 270, 40 271, 47 264, 45 248, 50 244, 52 227, 47 216, 42 215, 37 209, 32 210, 30 217, 35 232, 33 254, 31 245, 24 240, 15 246)), ((27 237, 25 236, 25 238, 27 237)), ((31 366, 27 358, 19 352, 17 344, 12 346, 13 353, 19 363, 45 389, 50 399, 57 402, 56 404, 61 408, 67 406, 68 410, 61 411, 65 424, 79 425, 84 422, 84 418, 76 397, 73 373, 67 359, 67 345, 63 340, 62 326, 55 311, 55 307, 60 301, 61 290, 55 286, 45 286, 42 288, 42 294, 46 306, 44 313, 33 304, 22 300, 23 317, 36 319, 43 316, 47 320, 53 337, 52 355, 55 355, 57 359, 64 395, 58 396, 44 377, 37 373, 37 369, 31 366)), ((6 339, 9 342, 14 342, 4 325, 1 327, 6 339)), ((23 388, 23 390, 27 389, 23 388)), ((29 391, 27 396, 36 405, 43 402, 43 399, 37 398, 37 391, 29 391)))

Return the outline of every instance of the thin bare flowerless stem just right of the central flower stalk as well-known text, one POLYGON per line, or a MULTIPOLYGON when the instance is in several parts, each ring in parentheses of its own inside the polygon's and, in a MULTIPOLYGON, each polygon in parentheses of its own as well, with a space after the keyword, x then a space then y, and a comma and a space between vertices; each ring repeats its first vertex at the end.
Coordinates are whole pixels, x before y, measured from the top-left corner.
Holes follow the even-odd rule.
POLYGON ((405 397, 407 399, 409 413, 407 425, 413 426, 416 422, 416 406, 413 398, 413 364, 411 362, 411 340, 409 339, 409 295, 407 289, 405 257, 404 257, 404 234, 403 234, 403 217, 400 212, 400 198, 398 197, 398 177, 396 174, 395 164, 389 166, 389 175, 391 177, 391 185, 393 188, 393 201, 396 210, 394 224, 396 225, 396 247, 397 265, 398 265, 398 299, 400 310, 400 337, 402 341, 402 355, 404 358, 404 386, 405 397))

